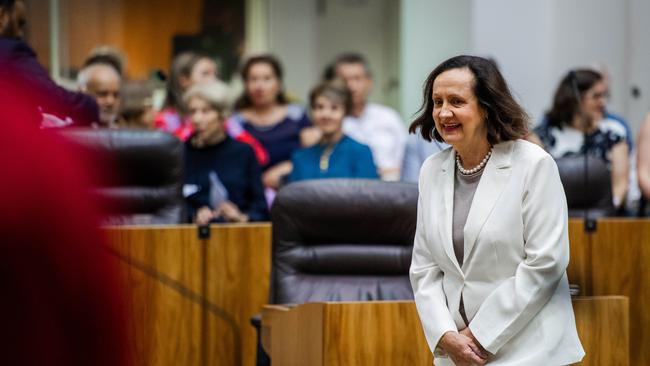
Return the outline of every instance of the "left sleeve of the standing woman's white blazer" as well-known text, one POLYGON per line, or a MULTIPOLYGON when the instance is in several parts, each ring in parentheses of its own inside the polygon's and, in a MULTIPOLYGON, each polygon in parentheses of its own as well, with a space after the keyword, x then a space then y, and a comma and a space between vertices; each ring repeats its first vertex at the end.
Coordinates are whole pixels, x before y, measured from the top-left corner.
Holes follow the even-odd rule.
POLYGON ((422 190, 420 190, 409 275, 424 335, 431 352, 438 353, 436 348, 440 338, 448 331, 456 332, 458 330, 447 308, 447 297, 442 287, 444 274, 438 264, 434 262, 426 243, 422 205, 422 190))

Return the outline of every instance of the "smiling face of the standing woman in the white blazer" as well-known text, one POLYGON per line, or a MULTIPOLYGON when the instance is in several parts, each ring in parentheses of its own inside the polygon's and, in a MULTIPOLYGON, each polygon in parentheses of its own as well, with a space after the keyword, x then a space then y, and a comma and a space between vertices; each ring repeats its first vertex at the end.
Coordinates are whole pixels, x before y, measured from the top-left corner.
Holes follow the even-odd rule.
POLYGON ((447 70, 433 81, 433 120, 442 138, 457 150, 487 141, 485 110, 474 95, 468 68, 447 70))

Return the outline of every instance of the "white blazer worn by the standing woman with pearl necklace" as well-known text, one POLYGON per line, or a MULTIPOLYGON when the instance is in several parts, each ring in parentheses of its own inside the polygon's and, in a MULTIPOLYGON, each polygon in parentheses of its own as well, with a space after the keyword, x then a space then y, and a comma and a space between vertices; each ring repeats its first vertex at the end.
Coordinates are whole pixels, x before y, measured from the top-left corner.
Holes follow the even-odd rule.
POLYGON ((454 151, 420 171, 411 285, 436 366, 442 335, 469 328, 493 355, 490 365, 566 365, 584 350, 578 339, 566 267, 566 197, 555 161, 523 140, 494 146, 464 228, 463 266, 452 243, 454 151))

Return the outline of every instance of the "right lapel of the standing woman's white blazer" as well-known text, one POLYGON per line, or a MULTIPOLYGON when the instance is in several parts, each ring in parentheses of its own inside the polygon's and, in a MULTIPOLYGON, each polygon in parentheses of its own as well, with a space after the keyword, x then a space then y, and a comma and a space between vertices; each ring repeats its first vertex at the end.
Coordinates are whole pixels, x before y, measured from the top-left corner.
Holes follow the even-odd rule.
POLYGON ((501 193, 503 192, 511 172, 513 141, 500 143, 494 146, 492 156, 485 166, 481 176, 472 206, 467 215, 467 222, 463 229, 465 236, 465 251, 463 266, 472 252, 481 229, 485 225, 490 213, 494 209, 501 193))

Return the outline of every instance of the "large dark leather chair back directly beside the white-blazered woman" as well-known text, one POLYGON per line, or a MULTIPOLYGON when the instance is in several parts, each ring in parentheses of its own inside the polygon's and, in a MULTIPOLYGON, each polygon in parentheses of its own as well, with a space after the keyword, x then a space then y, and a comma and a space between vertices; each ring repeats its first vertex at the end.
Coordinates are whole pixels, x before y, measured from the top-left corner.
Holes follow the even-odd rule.
POLYGON ((278 193, 271 303, 412 299, 408 271, 418 189, 324 179, 278 193))

